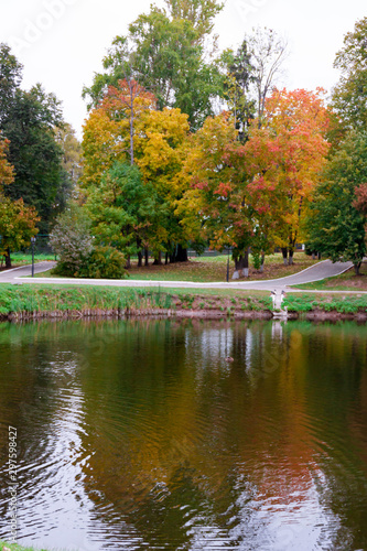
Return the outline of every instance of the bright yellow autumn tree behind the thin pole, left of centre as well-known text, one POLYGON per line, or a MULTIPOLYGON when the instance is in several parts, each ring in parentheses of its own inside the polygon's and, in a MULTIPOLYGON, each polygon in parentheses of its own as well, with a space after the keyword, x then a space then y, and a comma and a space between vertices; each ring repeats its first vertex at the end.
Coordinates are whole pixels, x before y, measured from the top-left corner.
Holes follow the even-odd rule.
POLYGON ((144 248, 149 245, 158 262, 162 252, 166 252, 172 261, 184 260, 186 239, 174 214, 174 202, 182 194, 177 174, 185 155, 187 116, 179 109, 155 110, 154 96, 141 87, 139 89, 139 96, 136 95, 131 104, 126 82, 121 82, 119 88, 110 88, 86 121, 83 140, 85 193, 87 196, 93 194, 117 161, 131 164, 132 159, 141 171, 143 183, 154 191, 158 205, 161 205, 156 207, 156 216, 150 217, 154 219, 150 237, 144 235, 140 245, 145 244, 144 248), (134 114, 133 133, 131 111, 134 114), (179 250, 182 253, 177 253, 179 250))

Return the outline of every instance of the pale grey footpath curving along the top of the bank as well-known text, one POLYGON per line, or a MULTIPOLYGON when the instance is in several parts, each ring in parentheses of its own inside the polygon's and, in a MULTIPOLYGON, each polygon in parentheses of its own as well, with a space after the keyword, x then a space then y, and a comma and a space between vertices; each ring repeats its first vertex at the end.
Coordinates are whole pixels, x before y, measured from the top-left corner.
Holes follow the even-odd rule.
MULTIPOLYGON (((55 262, 40 262, 34 266, 35 273, 42 273, 50 270, 55 262)), ((0 283, 47 283, 54 285, 102 285, 102 287, 161 287, 161 288, 184 288, 184 289, 255 289, 258 291, 276 291, 277 293, 282 290, 287 291, 290 285, 301 285, 302 283, 312 283, 314 281, 320 281, 325 278, 332 278, 334 276, 339 276, 344 273, 349 268, 352 268, 352 262, 335 262, 331 260, 324 260, 315 266, 306 268, 305 270, 294 273, 293 276, 288 276, 287 278, 263 280, 263 281, 233 281, 230 283, 197 283, 191 281, 150 281, 150 280, 104 280, 104 279, 73 279, 73 278, 34 278, 34 279, 22 279, 26 276, 31 276, 32 267, 24 266, 21 268, 15 268, 13 270, 8 270, 0 273, 0 283)), ((299 289, 292 289, 292 291, 301 291, 299 289)), ((302 291, 301 291, 302 292, 302 291)), ((324 291, 324 292, 336 292, 336 291, 324 291)), ((346 291, 342 291, 345 293, 346 291)), ((363 293, 363 291, 355 291, 363 293)))

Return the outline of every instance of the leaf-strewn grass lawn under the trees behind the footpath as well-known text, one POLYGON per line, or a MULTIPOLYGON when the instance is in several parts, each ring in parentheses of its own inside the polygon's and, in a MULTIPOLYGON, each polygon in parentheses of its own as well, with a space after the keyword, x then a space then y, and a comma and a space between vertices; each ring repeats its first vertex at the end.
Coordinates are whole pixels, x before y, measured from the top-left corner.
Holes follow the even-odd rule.
MULTIPOLYGON (((138 268, 137 262, 132 262, 132 268, 128 271, 129 279, 137 281, 192 281, 201 283, 224 282, 227 279, 227 259, 225 255, 217 257, 197 257, 191 258, 188 262, 179 262, 168 266, 153 266, 152 262, 148 267, 138 268)), ((312 260, 304 252, 294 255, 294 264, 284 266, 281 253, 270 255, 267 257, 263 273, 255 270, 252 259, 250 257, 249 278, 246 281, 269 280, 284 278, 299 271, 314 266, 317 260, 312 260)), ((230 280, 234 273, 234 262, 230 261, 230 280)), ((51 270, 36 276, 37 278, 55 277, 51 270)), ((245 281, 245 279, 242 280, 245 281)))

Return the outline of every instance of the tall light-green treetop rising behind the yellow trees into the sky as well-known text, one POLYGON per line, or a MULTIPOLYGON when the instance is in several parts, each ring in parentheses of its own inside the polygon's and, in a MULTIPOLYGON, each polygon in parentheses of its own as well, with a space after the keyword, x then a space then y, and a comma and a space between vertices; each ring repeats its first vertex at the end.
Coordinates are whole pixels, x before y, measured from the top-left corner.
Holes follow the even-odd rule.
POLYGON ((223 75, 206 60, 203 37, 220 6, 212 0, 169 4, 171 12, 152 7, 129 25, 127 36, 114 40, 104 60, 105 73, 96 74, 84 89, 89 108, 98 105, 108 86, 133 78, 154 94, 160 109, 175 107, 187 114, 194 129, 213 114, 223 75))

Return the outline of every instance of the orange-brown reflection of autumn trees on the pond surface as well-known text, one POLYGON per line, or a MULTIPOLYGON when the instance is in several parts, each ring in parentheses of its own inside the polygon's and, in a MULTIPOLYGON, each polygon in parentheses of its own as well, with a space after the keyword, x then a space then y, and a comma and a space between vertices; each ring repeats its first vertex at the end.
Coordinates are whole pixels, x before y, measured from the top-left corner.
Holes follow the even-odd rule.
MULTIPOLYGON (((147 377, 148 366, 139 353, 136 363, 125 364, 139 366, 139 385, 131 390, 129 381, 136 379, 136 369, 125 370, 125 390, 117 398, 125 408, 130 403, 123 415, 129 420, 123 442, 119 452, 110 449, 107 454, 104 440, 99 440, 99 452, 98 444, 93 444, 93 472, 99 471, 99 461, 108 457, 111 476, 104 479, 104 494, 114 501, 119 480, 131 501, 132 510, 127 507, 126 512, 151 545, 170 540, 172 515, 176 534, 172 541, 177 545, 187 545, 190 538, 194 541, 203 523, 208 533, 212 530, 218 539, 233 539, 234 544, 245 538, 238 529, 244 522, 249 541, 257 534, 270 538, 256 512, 265 504, 271 504, 269 512, 283 507, 291 515, 304 500, 316 510, 309 522, 327 523, 324 508, 331 509, 332 504, 328 499, 322 504, 315 491, 315 473, 323 466, 310 442, 311 421, 317 419, 312 408, 323 402, 324 388, 315 397, 309 396, 315 389, 307 388, 307 363, 313 361, 315 343, 323 368, 326 360, 333 370, 333 355, 342 353, 343 342, 349 350, 350 335, 339 332, 335 352, 333 345, 320 345, 324 336, 332 338, 333 334, 325 328, 321 336, 320 327, 315 332, 289 325, 280 335, 261 323, 194 323, 173 326, 173 331, 174 355, 166 354, 170 346, 164 338, 161 346, 154 343, 153 349, 160 348, 154 380, 147 377), (227 354, 235 358, 230 366, 225 363, 227 354), (164 390, 159 398, 158 388, 164 390)), ((143 356, 151 357, 150 347, 143 356)), ((98 432, 104 433, 102 425, 98 432)))

